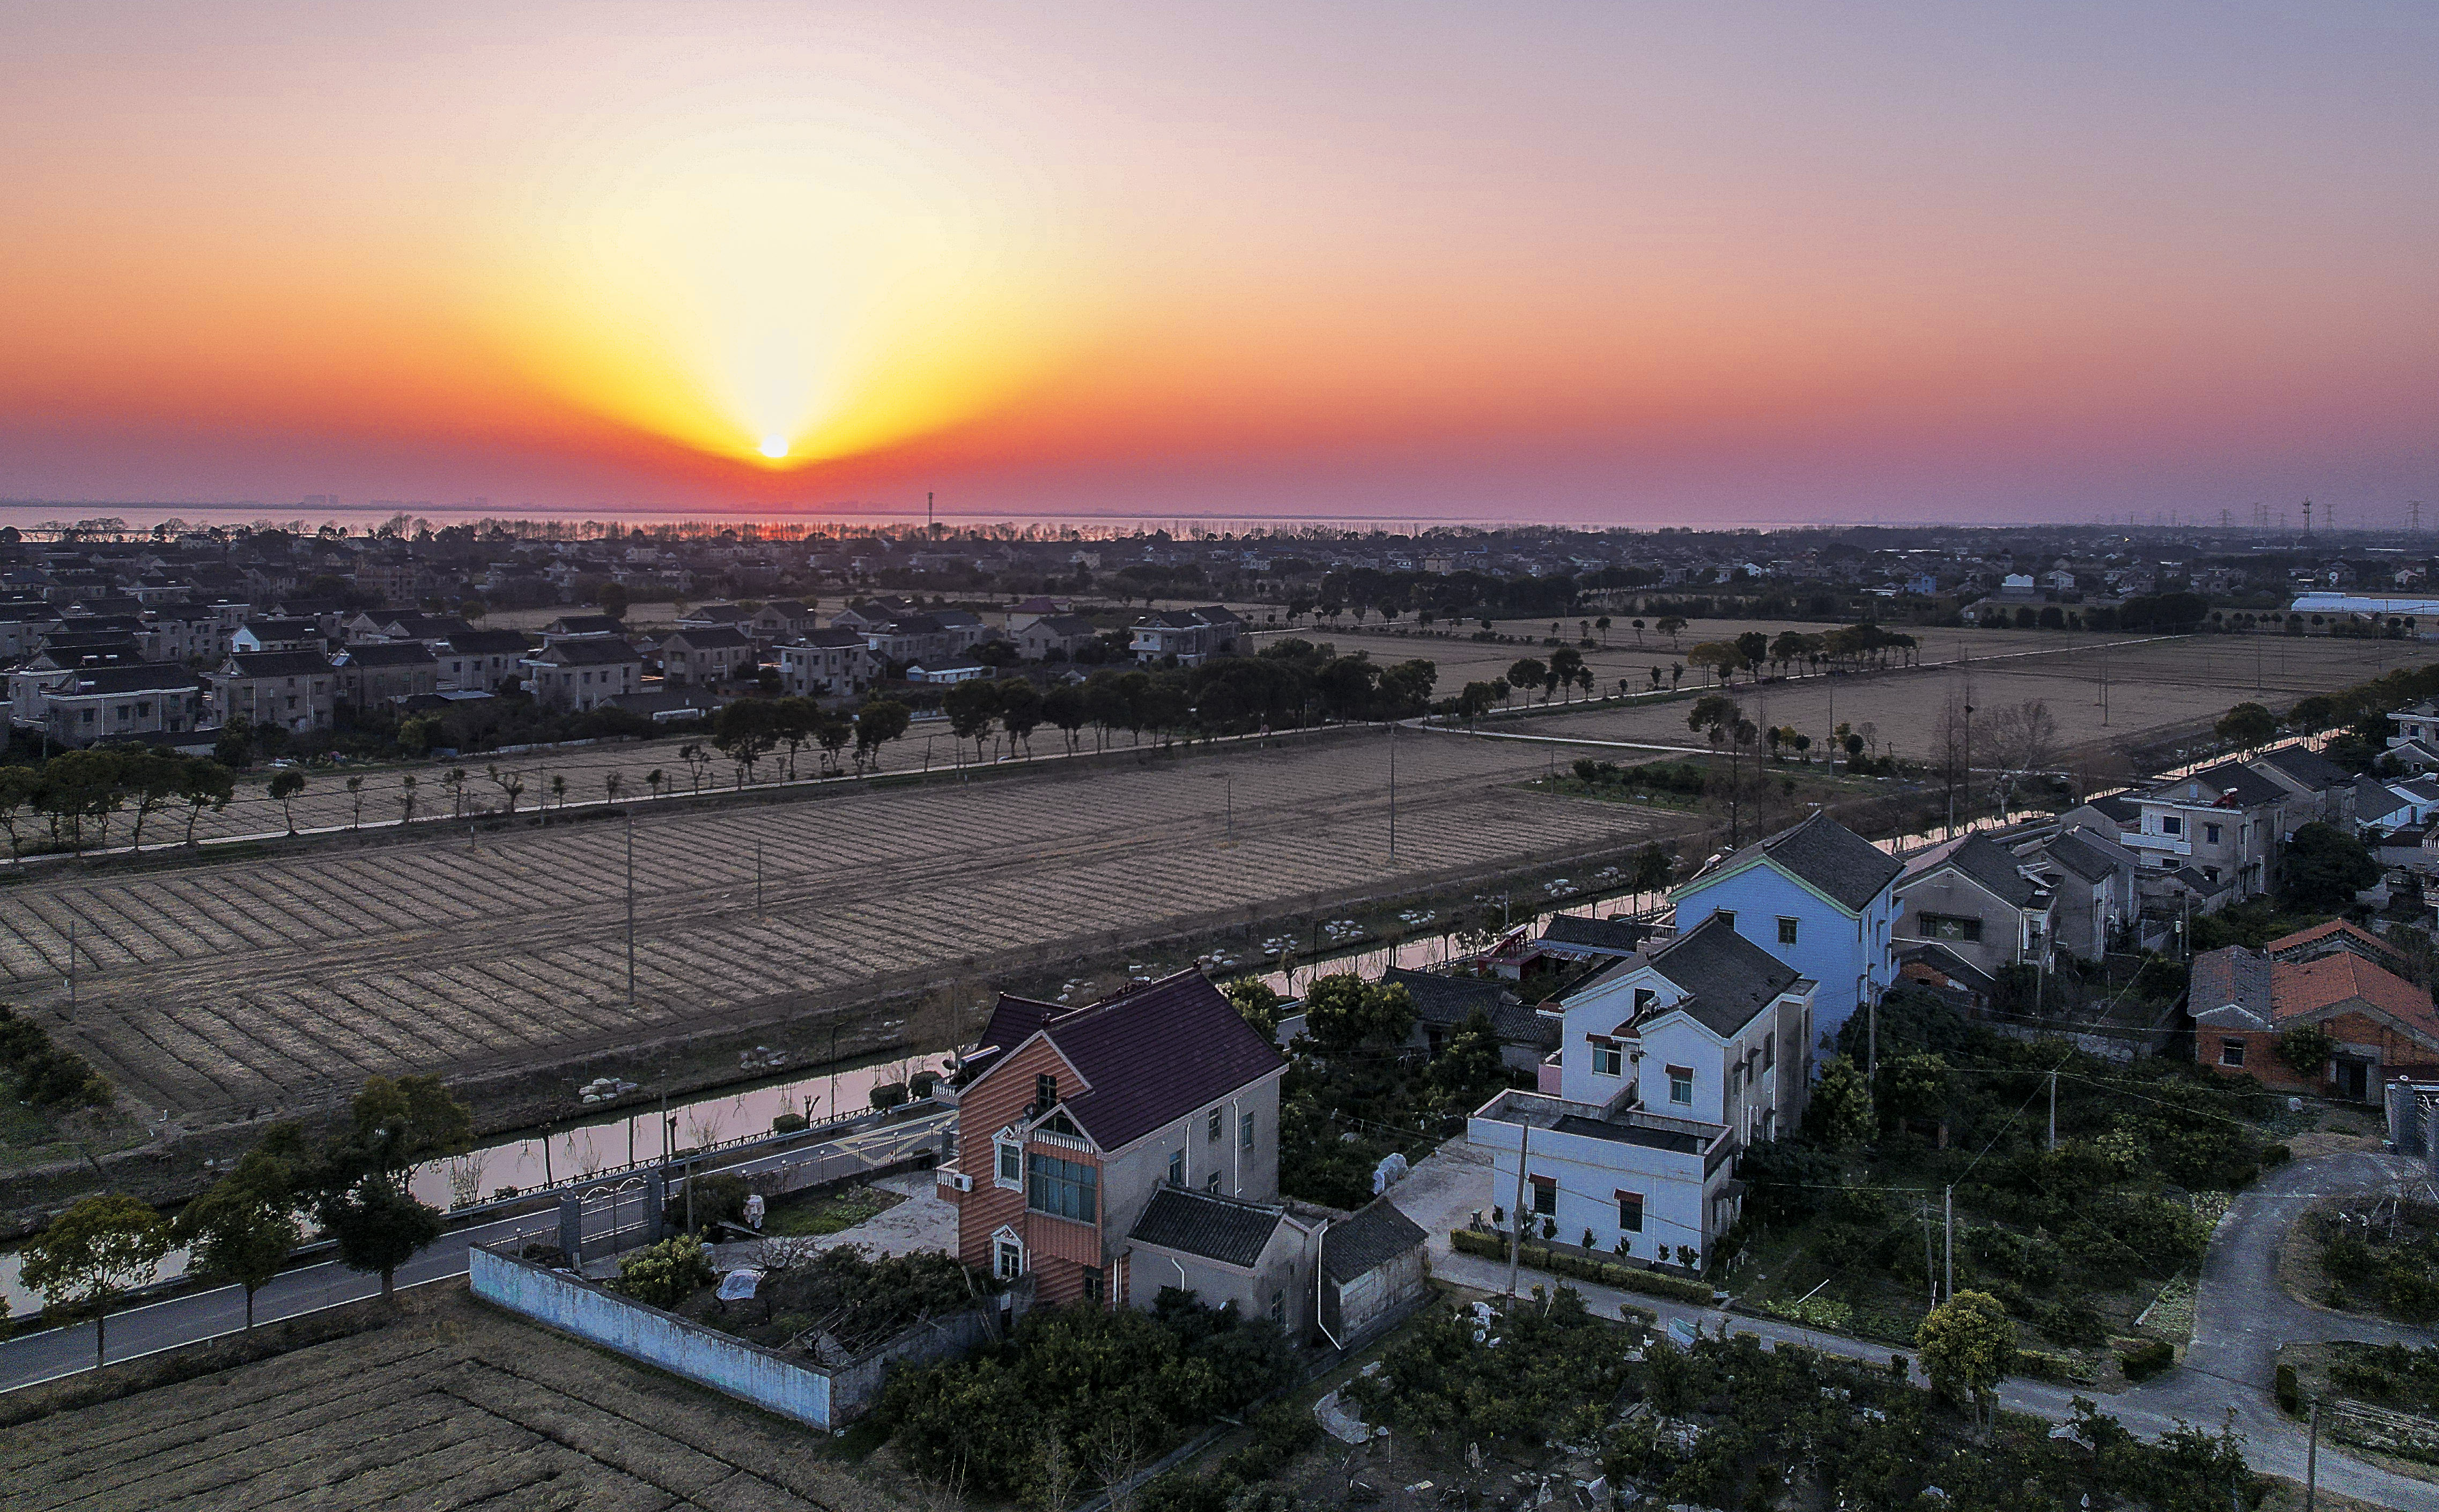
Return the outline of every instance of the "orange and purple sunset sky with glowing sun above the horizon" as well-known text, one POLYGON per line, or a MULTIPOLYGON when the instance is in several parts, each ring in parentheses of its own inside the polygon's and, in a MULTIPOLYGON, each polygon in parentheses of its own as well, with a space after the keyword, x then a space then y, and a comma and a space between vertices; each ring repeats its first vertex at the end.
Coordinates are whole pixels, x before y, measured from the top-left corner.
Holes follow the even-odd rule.
POLYGON ((2424 5, 85 0, 0 41, 0 497, 2439 497, 2424 5))

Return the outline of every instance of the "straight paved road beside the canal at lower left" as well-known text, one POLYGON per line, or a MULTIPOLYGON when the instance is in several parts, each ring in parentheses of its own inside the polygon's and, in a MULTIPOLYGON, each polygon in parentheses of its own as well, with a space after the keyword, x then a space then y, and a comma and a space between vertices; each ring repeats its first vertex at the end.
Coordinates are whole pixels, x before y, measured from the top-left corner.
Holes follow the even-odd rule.
MULTIPOLYGON (((749 1161, 737 1161, 722 1166, 732 1175, 754 1175, 761 1171, 778 1171, 780 1166, 802 1166, 807 1161, 822 1161, 824 1166, 839 1163, 841 1173, 851 1168, 890 1166, 907 1156, 924 1139, 932 1139, 956 1117, 954 1110, 941 1110, 924 1114, 920 1119, 907 1119, 902 1124, 880 1124, 871 1129, 856 1129, 812 1146, 800 1146, 790 1151, 778 1151, 768 1156, 756 1156, 749 1161)), ((829 1178, 832 1171, 820 1171, 817 1178, 829 1178)), ((556 1210, 524 1212, 517 1217, 493 1219, 488 1224, 471 1224, 466 1229, 451 1229, 437 1244, 417 1253, 412 1261, 398 1268, 398 1285, 424 1285, 432 1280, 449 1280, 451 1275, 466 1273, 466 1249, 471 1244, 493 1244, 500 1239, 512 1239, 517 1234, 532 1236, 556 1236, 559 1214, 556 1210)), ((307 1312, 320 1312, 324 1307, 339 1307, 344 1302, 361 1302, 363 1297, 380 1295, 380 1278, 363 1275, 361 1271, 349 1271, 339 1261, 324 1261, 320 1266, 298 1266, 295 1271, 280 1271, 280 1275, 254 1293, 254 1322, 280 1322, 288 1317, 302 1317, 307 1312)), ((163 1349, 178 1349, 183 1344, 202 1344, 205 1339, 220 1339, 222 1334, 234 1334, 246 1327, 246 1293, 224 1285, 207 1293, 188 1293, 183 1297, 166 1297, 161 1302, 149 1302, 144 1307, 129 1307, 127 1312, 112 1312, 107 1324, 110 1363, 141 1358, 146 1353, 159 1353, 163 1349)), ((39 1334, 22 1334, 0 1344, 0 1390, 15 1390, 20 1385, 39 1385, 44 1380, 59 1380, 61 1375, 76 1375, 78 1371, 93 1368, 93 1324, 76 1324, 68 1329, 44 1329, 39 1334)))

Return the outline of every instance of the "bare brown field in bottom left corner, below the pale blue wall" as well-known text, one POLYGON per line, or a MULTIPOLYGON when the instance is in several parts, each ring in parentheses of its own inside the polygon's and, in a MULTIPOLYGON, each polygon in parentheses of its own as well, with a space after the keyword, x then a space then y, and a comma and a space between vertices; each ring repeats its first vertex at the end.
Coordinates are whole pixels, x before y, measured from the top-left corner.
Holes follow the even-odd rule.
POLYGON ((22 1512, 900 1505, 807 1432, 471 1302, 0 1429, 22 1512))

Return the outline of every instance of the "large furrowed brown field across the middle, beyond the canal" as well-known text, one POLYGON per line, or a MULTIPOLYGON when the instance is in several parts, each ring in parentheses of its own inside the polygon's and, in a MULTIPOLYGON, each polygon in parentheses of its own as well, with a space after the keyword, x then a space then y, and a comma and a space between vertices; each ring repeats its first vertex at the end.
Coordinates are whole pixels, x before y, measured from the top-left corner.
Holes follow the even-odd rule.
POLYGON ((1402 732, 1393 863, 1388 739, 646 812, 632 1007, 617 822, 37 875, 0 910, 0 997, 63 1017, 73 927, 59 1034, 137 1102, 302 1107, 368 1073, 534 1068, 951 980, 971 1007, 993 975, 1690 822, 1524 793, 1539 744, 1402 732))

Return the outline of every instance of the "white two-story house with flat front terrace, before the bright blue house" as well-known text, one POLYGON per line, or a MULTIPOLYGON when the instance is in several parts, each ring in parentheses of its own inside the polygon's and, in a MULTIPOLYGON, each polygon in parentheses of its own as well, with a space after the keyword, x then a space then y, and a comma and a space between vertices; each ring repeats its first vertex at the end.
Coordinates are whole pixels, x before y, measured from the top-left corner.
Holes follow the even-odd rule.
POLYGON ((1698 1258, 1737 1222, 1741 1149, 1802 1119, 1817 983, 1717 915, 1566 995, 1559 1063, 1468 1119, 1493 1200, 1563 1244, 1698 1258))

